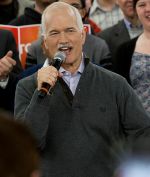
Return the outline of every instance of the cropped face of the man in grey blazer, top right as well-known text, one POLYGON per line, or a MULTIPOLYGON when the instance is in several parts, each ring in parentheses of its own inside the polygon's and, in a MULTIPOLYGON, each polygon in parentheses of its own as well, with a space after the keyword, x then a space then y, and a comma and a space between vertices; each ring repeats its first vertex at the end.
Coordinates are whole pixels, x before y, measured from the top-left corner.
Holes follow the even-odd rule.
POLYGON ((133 0, 118 0, 120 8, 122 9, 125 17, 134 18, 136 13, 133 8, 133 0))

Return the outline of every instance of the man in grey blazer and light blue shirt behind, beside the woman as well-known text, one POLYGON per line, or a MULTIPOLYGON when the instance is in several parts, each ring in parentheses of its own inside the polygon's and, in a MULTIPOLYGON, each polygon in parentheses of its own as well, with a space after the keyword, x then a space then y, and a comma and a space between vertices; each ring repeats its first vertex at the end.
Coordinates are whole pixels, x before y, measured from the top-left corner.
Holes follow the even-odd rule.
POLYGON ((135 38, 143 31, 136 11, 133 8, 133 0, 117 0, 117 3, 124 14, 123 20, 98 34, 108 44, 112 55, 113 68, 115 68, 115 55, 118 47, 122 43, 135 38))

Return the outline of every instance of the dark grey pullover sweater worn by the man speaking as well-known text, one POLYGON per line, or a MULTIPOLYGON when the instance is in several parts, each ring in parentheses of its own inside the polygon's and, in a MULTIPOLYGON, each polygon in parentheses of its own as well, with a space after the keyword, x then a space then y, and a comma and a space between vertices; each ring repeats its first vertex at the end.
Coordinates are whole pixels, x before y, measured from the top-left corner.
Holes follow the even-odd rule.
POLYGON ((92 63, 74 96, 61 78, 51 95, 38 94, 36 74, 20 80, 15 117, 37 139, 43 177, 112 177, 120 158, 113 144, 145 129, 150 135, 150 119, 125 79, 92 63))

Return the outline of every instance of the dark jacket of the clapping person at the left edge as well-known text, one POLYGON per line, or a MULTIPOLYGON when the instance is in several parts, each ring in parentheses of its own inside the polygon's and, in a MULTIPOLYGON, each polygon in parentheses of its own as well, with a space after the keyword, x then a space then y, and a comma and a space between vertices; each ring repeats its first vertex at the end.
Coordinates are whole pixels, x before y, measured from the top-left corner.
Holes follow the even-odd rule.
POLYGON ((14 95, 18 74, 22 71, 18 51, 14 37, 10 31, 0 30, 0 59, 6 55, 9 50, 13 51, 13 59, 17 64, 9 74, 9 81, 5 89, 0 87, 0 108, 13 111, 14 95))

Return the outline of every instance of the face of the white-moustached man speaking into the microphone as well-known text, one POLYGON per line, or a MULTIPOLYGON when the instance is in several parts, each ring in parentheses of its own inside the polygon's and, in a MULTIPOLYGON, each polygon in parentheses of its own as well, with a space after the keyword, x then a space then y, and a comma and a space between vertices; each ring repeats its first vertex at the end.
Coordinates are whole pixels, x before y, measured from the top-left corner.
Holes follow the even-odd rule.
POLYGON ((82 45, 85 31, 79 30, 76 17, 72 11, 55 9, 46 14, 45 48, 49 58, 58 51, 64 51, 64 66, 79 63, 82 56, 82 45))

